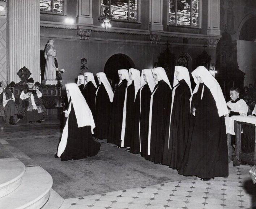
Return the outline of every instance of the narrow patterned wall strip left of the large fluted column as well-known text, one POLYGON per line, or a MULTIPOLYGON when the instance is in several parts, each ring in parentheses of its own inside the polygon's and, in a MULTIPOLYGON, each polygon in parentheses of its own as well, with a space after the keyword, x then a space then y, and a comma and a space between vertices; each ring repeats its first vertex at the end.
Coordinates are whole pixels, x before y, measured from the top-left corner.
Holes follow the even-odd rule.
POLYGON ((0 16, 0 81, 7 79, 7 60, 6 59, 7 59, 6 17, 0 16))

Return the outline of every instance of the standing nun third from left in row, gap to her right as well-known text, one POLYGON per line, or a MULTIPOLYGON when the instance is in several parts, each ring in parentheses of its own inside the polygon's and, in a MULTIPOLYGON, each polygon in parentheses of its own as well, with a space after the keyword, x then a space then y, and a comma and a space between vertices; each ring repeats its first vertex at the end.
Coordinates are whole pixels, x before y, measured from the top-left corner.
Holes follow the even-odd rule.
POLYGON ((107 139, 111 115, 111 103, 114 93, 104 72, 98 72, 99 86, 95 97, 95 133, 96 139, 107 139))

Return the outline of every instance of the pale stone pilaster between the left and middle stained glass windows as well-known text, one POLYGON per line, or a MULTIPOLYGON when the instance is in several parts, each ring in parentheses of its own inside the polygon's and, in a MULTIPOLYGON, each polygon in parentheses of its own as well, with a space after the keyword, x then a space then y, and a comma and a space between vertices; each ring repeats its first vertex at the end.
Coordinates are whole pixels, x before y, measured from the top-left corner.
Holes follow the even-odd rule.
POLYGON ((93 24, 92 0, 78 0, 76 22, 79 28, 93 24))

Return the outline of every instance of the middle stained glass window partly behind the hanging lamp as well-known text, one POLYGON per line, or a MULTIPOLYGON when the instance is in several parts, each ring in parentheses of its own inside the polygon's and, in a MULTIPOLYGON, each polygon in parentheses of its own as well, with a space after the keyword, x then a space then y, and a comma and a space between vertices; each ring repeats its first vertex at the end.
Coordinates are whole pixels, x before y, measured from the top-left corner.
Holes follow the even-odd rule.
POLYGON ((138 21, 138 0, 101 0, 101 13, 110 9, 113 19, 138 21))

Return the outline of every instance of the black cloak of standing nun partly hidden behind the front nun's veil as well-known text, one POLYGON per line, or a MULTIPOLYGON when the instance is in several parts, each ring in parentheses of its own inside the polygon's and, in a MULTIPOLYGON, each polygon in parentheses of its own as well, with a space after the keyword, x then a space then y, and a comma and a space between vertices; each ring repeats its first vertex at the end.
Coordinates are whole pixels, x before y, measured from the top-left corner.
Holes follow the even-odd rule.
POLYGON ((82 95, 84 96, 85 98, 85 101, 87 102, 90 110, 91 110, 91 113, 93 114, 93 117, 94 116, 94 112, 95 112, 95 96, 96 96, 96 88, 95 86, 93 85, 93 82, 89 81, 84 89, 82 90, 82 95))

